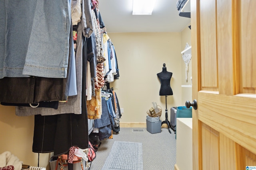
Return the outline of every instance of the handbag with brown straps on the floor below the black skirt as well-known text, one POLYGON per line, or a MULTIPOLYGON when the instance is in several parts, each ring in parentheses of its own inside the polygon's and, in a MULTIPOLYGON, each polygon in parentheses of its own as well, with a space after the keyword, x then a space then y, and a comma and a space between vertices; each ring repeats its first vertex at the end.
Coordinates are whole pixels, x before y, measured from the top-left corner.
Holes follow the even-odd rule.
MULTIPOLYGON (((84 167, 86 167, 85 160, 74 155, 73 170, 84 170, 84 167)), ((53 156, 50 159, 50 168, 51 170, 68 170, 68 155, 62 154, 58 157, 53 156)))

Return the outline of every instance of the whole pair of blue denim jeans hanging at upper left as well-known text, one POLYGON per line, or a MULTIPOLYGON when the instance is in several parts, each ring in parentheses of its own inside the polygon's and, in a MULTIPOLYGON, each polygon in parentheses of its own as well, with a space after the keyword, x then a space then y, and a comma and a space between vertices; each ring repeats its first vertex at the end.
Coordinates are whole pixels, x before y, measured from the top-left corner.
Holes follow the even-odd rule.
POLYGON ((0 78, 66 78, 70 11, 70 0, 0 1, 0 78))

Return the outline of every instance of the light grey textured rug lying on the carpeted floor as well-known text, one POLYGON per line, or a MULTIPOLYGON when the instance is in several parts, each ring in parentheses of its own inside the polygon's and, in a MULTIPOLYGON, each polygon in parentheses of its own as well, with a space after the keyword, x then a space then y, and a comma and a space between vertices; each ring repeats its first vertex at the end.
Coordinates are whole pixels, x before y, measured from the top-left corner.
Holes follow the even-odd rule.
POLYGON ((102 170, 143 170, 142 143, 114 141, 102 170))

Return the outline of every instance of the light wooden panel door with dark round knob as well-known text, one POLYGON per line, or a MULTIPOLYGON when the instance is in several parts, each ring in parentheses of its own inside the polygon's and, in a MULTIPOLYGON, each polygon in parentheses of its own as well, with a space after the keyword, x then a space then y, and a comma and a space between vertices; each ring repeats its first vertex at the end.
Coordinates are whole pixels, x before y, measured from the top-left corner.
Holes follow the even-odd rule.
POLYGON ((256 166, 256 0, 191 0, 193 169, 256 166))

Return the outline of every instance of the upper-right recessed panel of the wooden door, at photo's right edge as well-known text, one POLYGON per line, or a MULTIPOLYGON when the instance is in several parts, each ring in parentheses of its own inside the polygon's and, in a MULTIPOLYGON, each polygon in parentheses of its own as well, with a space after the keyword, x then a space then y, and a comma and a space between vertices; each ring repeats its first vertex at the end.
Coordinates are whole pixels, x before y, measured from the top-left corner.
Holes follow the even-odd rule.
MULTIPOLYGON (((240 2, 240 93, 256 94, 256 12, 255 0, 240 2), (244 3, 246 2, 246 3, 244 3)), ((239 24, 239 23, 238 23, 239 24)))

